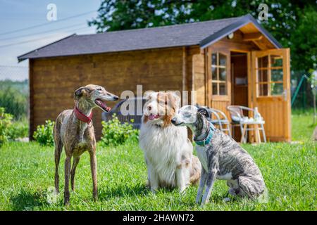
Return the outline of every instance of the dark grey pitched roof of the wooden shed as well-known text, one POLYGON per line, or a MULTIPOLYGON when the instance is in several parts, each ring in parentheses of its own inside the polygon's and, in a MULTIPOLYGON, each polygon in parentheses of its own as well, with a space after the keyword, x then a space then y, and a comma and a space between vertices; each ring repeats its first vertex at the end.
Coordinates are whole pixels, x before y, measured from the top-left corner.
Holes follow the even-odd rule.
POLYGON ((248 23, 253 23, 276 48, 281 47, 278 41, 248 14, 236 18, 209 20, 181 25, 104 32, 99 34, 72 34, 42 48, 18 56, 18 60, 159 49, 176 46, 199 45, 201 48, 204 48, 248 23))

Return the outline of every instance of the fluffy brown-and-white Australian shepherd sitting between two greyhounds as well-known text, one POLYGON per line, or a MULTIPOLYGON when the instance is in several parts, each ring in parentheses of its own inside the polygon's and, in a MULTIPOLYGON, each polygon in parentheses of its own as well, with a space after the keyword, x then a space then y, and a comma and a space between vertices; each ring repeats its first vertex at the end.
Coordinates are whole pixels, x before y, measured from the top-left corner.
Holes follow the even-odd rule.
POLYGON ((180 107, 180 97, 170 91, 148 92, 147 98, 139 146, 144 151, 149 186, 152 192, 164 187, 178 187, 183 192, 199 180, 201 164, 192 155, 187 129, 170 122, 180 107))

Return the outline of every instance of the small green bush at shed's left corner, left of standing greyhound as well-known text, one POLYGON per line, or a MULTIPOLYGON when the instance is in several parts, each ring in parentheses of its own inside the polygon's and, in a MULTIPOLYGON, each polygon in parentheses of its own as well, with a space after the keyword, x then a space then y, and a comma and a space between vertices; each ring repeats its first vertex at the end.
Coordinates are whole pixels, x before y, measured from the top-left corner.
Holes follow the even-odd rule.
POLYGON ((54 146, 53 137, 54 122, 46 120, 44 125, 37 126, 37 130, 33 134, 33 138, 41 146, 54 146))

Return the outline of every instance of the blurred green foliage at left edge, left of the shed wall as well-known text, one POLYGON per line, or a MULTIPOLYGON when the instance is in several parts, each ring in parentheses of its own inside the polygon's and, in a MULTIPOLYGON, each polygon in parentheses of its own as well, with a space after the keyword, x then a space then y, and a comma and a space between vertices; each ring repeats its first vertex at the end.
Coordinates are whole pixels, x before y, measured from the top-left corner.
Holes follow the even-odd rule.
POLYGON ((27 116, 27 90, 27 81, 0 81, 0 107, 6 108, 6 112, 13 115, 15 120, 20 120, 27 116))

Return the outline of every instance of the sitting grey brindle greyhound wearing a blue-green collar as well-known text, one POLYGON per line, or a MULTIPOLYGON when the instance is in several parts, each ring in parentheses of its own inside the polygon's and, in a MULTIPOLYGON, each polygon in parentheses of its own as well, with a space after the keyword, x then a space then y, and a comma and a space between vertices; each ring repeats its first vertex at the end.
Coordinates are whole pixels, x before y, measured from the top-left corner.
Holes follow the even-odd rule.
POLYGON ((248 198, 261 195, 266 187, 259 167, 246 150, 230 136, 213 127, 204 115, 209 116, 206 108, 185 105, 172 119, 175 126, 192 129, 197 144, 197 156, 202 169, 196 202, 201 205, 208 203, 216 178, 227 181, 231 195, 248 198))

